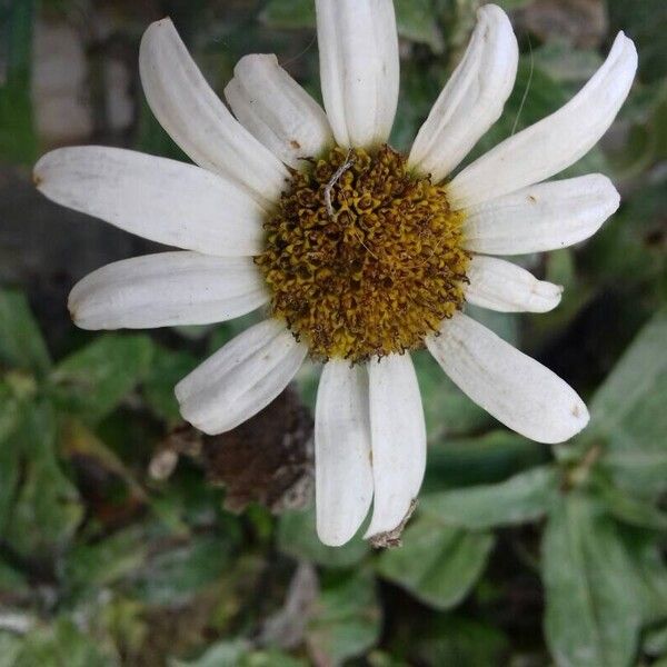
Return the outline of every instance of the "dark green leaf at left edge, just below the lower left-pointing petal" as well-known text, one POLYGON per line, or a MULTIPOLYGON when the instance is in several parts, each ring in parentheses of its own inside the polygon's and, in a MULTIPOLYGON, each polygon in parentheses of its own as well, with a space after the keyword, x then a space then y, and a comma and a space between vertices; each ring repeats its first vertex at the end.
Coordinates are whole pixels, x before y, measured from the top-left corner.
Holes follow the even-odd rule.
POLYGON ((26 297, 0 290, 0 366, 46 374, 51 359, 26 297))

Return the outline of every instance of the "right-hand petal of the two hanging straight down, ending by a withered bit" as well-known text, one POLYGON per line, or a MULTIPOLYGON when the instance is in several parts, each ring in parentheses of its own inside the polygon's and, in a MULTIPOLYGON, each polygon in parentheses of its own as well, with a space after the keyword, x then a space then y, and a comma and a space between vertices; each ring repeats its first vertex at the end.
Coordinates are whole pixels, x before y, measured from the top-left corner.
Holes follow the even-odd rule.
POLYGON ((366 537, 394 530, 417 497, 426 469, 426 426, 409 355, 368 365, 375 500, 366 537))

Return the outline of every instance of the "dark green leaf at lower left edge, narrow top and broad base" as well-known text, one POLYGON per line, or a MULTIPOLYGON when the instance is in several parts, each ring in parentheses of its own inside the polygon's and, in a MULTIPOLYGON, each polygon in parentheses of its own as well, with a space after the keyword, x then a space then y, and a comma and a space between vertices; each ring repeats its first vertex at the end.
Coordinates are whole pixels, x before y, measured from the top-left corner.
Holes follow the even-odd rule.
POLYGON ((23 475, 3 537, 21 554, 54 554, 73 535, 83 514, 79 494, 56 456, 58 425, 47 402, 30 406, 16 432, 23 475))

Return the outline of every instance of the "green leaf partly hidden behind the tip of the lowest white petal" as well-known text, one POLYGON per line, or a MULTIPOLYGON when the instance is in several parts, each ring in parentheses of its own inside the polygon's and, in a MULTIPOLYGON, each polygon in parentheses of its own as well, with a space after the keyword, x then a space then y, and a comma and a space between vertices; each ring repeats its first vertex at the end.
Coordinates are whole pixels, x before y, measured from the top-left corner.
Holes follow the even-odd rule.
POLYGON ((351 567, 369 551, 360 537, 338 548, 327 547, 315 529, 315 508, 286 511, 278 520, 278 548, 297 560, 309 560, 326 567, 351 567))

